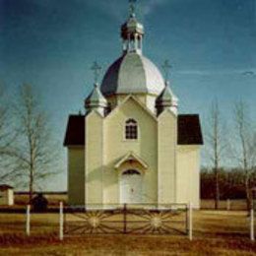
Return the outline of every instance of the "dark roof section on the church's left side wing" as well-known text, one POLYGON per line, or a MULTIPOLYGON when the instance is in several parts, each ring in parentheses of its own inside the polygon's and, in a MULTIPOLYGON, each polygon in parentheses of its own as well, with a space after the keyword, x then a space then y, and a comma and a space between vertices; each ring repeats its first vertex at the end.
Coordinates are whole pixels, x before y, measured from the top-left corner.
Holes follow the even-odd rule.
POLYGON ((64 146, 85 146, 85 115, 70 115, 64 146))

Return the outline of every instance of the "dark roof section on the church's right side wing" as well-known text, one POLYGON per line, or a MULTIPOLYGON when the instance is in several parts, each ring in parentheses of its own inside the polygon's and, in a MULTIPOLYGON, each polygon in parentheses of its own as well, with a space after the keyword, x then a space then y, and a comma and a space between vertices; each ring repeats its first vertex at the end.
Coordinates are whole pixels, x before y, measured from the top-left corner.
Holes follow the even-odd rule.
POLYGON ((178 115, 178 145, 203 145, 198 114, 178 115))

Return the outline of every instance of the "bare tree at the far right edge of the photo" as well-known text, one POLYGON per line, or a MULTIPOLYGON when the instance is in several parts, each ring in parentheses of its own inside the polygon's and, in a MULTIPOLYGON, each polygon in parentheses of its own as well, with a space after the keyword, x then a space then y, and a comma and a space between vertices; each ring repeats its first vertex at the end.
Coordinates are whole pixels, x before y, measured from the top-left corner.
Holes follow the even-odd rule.
POLYGON ((249 118, 248 105, 242 100, 234 104, 234 123, 235 140, 233 140, 232 154, 244 173, 243 183, 249 210, 251 204, 250 177, 256 163, 256 138, 249 118))

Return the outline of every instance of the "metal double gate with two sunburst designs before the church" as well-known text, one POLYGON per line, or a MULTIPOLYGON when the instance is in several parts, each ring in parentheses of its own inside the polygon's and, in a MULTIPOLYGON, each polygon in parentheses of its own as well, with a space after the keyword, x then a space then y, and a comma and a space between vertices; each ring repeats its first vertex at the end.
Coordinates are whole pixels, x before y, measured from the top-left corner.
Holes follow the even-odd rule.
POLYGON ((83 234, 187 234, 188 206, 118 205, 65 207, 64 235, 83 234))

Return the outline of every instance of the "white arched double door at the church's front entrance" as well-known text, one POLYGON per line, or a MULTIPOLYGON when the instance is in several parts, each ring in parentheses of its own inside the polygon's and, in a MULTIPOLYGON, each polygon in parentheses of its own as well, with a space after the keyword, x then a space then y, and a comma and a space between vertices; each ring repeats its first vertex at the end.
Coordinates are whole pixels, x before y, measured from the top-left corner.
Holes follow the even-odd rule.
POLYGON ((138 170, 128 169, 121 175, 120 203, 139 204, 142 202, 142 175, 138 170))

